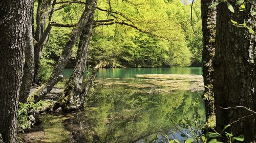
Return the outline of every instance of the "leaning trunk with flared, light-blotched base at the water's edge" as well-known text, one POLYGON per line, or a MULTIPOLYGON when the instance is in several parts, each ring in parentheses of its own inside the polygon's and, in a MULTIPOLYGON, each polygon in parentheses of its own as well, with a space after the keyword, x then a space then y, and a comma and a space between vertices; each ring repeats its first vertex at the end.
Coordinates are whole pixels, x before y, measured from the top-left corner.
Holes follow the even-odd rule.
MULTIPOLYGON (((96 7, 94 7, 92 11, 95 11, 95 8, 96 7)), ((80 98, 80 94, 82 92, 81 85, 84 70, 86 68, 89 42, 92 36, 92 27, 94 23, 93 18, 94 12, 91 13, 86 25, 82 30, 77 50, 76 66, 72 72, 67 87, 60 98, 60 103, 64 103, 61 105, 62 109, 65 108, 65 110, 78 109, 83 105, 83 100, 80 98)))

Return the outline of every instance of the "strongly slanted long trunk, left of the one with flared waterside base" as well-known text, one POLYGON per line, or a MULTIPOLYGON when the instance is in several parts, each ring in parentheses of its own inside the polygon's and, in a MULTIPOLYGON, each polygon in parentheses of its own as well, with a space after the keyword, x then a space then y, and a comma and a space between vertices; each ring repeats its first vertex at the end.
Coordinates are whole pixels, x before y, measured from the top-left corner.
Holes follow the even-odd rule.
POLYGON ((35 102, 38 102, 42 96, 49 93, 53 86, 62 78, 62 70, 65 68, 67 62, 71 57, 72 48, 78 39, 78 36, 81 34, 82 28, 87 23, 90 18, 90 15, 94 13, 94 9, 96 7, 97 0, 87 0, 86 1, 86 9, 83 11, 82 16, 76 27, 73 28, 71 37, 67 42, 66 46, 63 49, 63 52, 56 63, 56 66, 48 79, 48 81, 43 84, 39 90, 37 90, 35 95, 35 102))

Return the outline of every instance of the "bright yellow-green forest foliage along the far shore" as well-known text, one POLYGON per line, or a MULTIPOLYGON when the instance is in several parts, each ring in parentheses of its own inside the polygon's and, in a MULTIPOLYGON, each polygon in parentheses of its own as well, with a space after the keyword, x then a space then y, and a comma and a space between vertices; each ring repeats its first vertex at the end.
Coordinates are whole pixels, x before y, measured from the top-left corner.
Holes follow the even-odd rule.
MULTIPOLYGON (((107 68, 200 66, 200 1, 193 6, 192 18, 190 6, 183 3, 178 0, 141 0, 132 4, 111 1, 109 5, 106 1, 99 1, 94 16, 89 63, 97 64, 100 59, 107 68), (108 13, 110 7, 113 13, 108 13)), ((54 12, 52 21, 63 25, 76 24, 83 7, 80 3, 68 5, 54 12)), ((72 27, 52 28, 41 60, 43 68, 46 64, 53 65, 58 59, 71 30, 72 27)), ((78 43, 73 48, 72 59, 76 57, 77 47, 78 43)))

